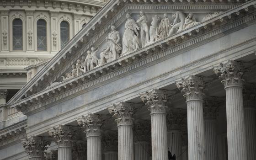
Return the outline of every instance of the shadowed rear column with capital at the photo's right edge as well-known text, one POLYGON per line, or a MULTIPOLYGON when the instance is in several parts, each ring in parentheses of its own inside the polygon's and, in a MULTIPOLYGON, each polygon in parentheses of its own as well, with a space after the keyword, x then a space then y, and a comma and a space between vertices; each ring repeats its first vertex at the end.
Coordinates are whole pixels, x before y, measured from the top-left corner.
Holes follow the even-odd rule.
POLYGON ((248 160, 256 160, 256 84, 247 84, 243 93, 248 160))

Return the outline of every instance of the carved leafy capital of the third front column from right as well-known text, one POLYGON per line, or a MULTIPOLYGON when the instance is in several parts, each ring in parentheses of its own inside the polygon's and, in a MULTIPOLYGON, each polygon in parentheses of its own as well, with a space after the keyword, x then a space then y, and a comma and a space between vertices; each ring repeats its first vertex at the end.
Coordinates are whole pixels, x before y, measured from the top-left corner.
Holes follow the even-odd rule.
POLYGON ((166 103, 168 101, 169 94, 174 93, 175 92, 172 91, 153 89, 151 91, 146 91, 145 93, 140 94, 140 98, 148 107, 151 114, 166 113, 166 103))

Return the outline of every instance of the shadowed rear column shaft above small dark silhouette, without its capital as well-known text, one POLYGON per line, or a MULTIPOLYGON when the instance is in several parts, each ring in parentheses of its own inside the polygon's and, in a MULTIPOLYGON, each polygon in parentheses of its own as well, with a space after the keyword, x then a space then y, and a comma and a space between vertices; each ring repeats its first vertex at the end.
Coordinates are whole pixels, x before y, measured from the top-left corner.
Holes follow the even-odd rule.
POLYGON ((181 130, 169 130, 167 132, 168 147, 172 155, 176 155, 176 160, 182 160, 182 132, 181 130))

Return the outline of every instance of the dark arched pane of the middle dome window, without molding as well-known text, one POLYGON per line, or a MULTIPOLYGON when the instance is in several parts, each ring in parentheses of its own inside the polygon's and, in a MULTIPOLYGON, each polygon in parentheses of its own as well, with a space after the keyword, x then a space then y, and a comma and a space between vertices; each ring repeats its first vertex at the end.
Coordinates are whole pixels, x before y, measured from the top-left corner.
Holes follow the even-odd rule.
POLYGON ((47 50, 47 37, 46 37, 46 21, 39 19, 37 21, 37 50, 47 50))

